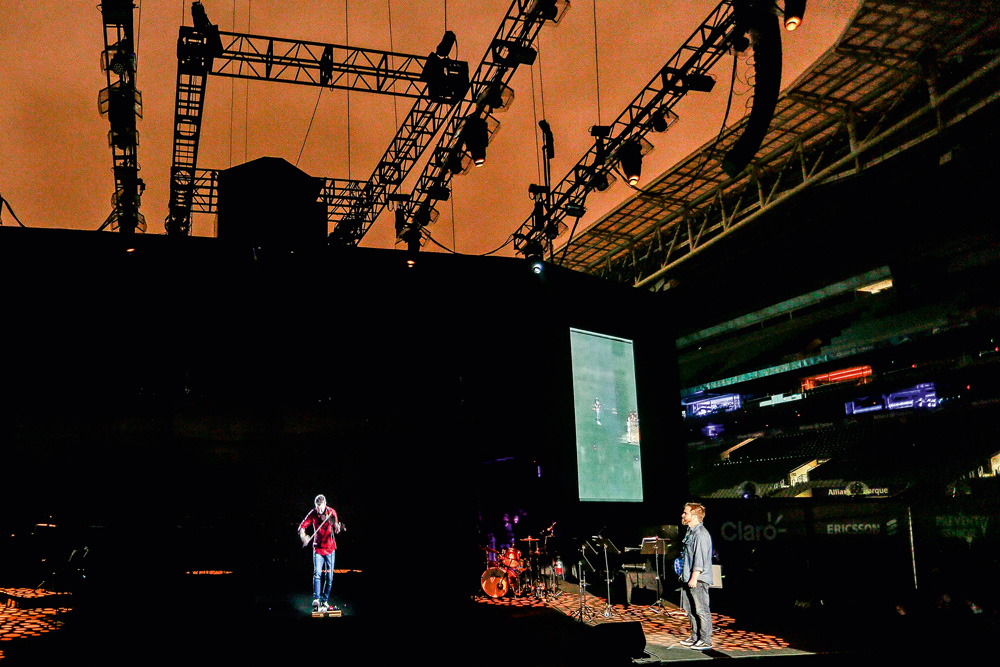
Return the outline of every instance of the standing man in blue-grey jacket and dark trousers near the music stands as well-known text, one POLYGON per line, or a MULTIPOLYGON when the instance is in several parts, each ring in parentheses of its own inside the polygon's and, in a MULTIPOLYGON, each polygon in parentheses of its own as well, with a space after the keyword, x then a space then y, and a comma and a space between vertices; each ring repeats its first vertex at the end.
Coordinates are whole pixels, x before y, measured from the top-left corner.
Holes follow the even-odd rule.
POLYGON ((691 636, 681 641, 698 651, 712 648, 712 612, 708 608, 708 587, 712 585, 712 536, 702 521, 705 507, 687 503, 681 523, 687 527, 681 548, 681 609, 691 622, 691 636))

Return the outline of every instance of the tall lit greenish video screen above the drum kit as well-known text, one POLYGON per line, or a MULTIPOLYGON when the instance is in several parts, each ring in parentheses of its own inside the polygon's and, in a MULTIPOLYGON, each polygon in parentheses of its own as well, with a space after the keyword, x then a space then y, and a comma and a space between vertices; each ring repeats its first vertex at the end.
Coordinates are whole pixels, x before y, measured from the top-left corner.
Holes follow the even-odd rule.
POLYGON ((570 329, 581 501, 642 502, 632 341, 570 329))

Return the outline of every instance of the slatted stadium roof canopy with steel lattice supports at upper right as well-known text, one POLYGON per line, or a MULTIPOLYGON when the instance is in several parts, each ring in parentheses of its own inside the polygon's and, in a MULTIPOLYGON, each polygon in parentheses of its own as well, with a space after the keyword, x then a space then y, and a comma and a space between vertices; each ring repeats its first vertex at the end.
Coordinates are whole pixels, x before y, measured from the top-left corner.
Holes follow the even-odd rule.
POLYGON ((729 129, 560 248, 564 266, 661 289, 671 270, 808 188, 948 131, 1000 97, 996 3, 866 0, 840 41, 781 96, 758 159, 735 178, 729 129), (995 52, 994 52, 995 56, 995 52), (975 60, 976 58, 979 60, 975 60), (974 59, 958 80, 941 66, 974 59))

